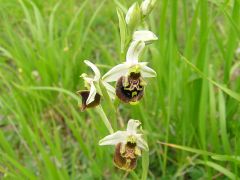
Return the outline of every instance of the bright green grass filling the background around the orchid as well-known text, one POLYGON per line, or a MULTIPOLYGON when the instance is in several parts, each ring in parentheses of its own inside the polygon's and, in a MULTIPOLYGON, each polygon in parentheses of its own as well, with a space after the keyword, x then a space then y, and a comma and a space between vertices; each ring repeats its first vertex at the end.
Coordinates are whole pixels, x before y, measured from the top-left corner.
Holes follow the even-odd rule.
MULTIPOLYGON (((123 62, 116 7, 134 1, 0 0, 0 179, 141 178, 112 163, 94 109, 72 93, 95 62, 123 62)), ((149 18, 159 40, 142 59, 158 73, 136 106, 119 104, 113 128, 139 119, 148 178, 240 177, 240 1, 158 0, 149 18)))

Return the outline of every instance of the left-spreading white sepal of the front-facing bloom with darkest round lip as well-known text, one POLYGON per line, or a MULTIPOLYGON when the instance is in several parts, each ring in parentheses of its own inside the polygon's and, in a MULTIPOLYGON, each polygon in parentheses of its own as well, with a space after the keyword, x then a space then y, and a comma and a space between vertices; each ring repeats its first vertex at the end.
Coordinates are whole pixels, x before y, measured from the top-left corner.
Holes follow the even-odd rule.
POLYGON ((103 77, 105 82, 117 81, 121 76, 124 76, 128 73, 130 66, 127 63, 118 64, 110 69, 103 77))

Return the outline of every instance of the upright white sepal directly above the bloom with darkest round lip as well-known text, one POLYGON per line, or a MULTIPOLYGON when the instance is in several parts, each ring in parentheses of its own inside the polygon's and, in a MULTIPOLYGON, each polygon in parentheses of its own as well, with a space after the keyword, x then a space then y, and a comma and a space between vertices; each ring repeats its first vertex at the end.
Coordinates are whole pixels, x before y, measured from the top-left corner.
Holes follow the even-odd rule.
POLYGON ((138 63, 138 58, 145 47, 143 41, 133 41, 127 51, 126 62, 131 65, 138 63))

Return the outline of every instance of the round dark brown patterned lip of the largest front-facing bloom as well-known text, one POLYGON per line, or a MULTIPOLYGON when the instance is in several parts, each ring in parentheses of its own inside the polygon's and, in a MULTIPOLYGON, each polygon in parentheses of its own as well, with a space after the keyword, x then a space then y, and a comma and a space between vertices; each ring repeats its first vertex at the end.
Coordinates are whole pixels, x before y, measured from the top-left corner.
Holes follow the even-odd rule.
POLYGON ((116 84, 117 97, 125 102, 132 103, 142 99, 144 86, 140 73, 131 72, 127 77, 120 77, 116 84))

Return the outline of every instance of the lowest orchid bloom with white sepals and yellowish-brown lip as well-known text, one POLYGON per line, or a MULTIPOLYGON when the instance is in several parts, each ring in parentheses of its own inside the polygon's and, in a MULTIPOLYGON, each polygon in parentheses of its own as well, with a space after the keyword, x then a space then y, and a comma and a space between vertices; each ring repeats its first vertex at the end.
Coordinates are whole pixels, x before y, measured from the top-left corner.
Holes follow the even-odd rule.
POLYGON ((126 131, 117 131, 99 141, 101 146, 114 145, 116 147, 114 163, 120 169, 133 170, 142 150, 148 151, 147 142, 143 139, 142 134, 137 132, 140 125, 140 121, 130 119, 126 131))

